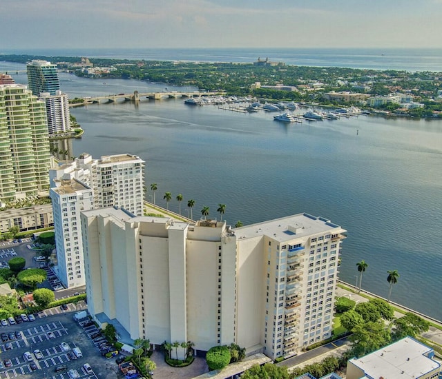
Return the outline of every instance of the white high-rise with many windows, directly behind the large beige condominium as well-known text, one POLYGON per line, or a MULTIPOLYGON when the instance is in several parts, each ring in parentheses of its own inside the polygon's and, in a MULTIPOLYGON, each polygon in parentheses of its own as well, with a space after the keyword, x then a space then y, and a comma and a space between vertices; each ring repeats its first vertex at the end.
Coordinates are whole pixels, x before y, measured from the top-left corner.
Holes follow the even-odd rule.
POLYGON ((85 284, 79 212, 105 203, 142 215, 144 161, 131 154, 102 156, 97 160, 84 153, 73 162, 59 163, 49 171, 49 178, 58 260, 56 271, 65 287, 79 287, 85 284), (81 265, 77 263, 79 260, 81 265))

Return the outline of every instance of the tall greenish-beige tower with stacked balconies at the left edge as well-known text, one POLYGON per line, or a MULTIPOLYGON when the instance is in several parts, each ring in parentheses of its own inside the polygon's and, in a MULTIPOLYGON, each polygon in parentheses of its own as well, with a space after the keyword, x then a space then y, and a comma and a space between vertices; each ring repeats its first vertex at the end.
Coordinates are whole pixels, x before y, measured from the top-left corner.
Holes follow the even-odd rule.
POLYGON ((0 200, 48 190, 50 150, 46 107, 25 85, 0 85, 0 200))

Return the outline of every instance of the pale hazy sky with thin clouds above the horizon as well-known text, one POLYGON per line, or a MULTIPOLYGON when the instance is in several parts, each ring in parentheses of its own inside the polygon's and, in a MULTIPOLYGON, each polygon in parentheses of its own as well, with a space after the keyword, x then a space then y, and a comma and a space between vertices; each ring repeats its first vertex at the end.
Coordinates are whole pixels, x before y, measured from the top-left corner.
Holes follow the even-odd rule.
POLYGON ((0 52, 442 47, 442 0, 1 0, 0 10, 0 52))

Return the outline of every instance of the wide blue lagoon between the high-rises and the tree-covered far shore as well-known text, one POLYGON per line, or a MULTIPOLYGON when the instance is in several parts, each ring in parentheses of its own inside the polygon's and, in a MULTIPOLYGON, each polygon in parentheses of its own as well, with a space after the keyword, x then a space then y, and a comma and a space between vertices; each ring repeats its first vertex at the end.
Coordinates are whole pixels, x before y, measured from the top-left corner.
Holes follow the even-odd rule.
MULTIPOLYGON (((15 78, 26 83, 26 75, 15 78)), ((74 97, 163 86, 61 74, 61 88, 74 97)), ((359 116, 280 125, 271 114, 189 107, 180 99, 72 113, 86 130, 73 141, 73 155, 141 156, 158 204, 165 206, 164 192, 173 199, 181 193, 182 213, 193 198, 197 218, 203 206, 217 216, 224 203, 233 225, 299 212, 328 217, 348 230, 343 280, 355 282, 363 259, 363 288, 387 296, 387 270, 397 269, 392 300, 442 320, 442 121, 359 116)), ((177 212, 177 202, 169 208, 177 212)))

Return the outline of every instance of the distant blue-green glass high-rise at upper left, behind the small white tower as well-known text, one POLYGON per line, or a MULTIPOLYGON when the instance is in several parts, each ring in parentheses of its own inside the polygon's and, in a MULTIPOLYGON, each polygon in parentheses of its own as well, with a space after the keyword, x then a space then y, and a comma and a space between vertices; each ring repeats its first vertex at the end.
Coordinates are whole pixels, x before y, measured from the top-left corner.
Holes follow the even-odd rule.
POLYGON ((31 61, 26 65, 28 73, 28 87, 35 96, 40 96, 41 92, 48 92, 55 95, 60 89, 57 65, 48 61, 31 61))

